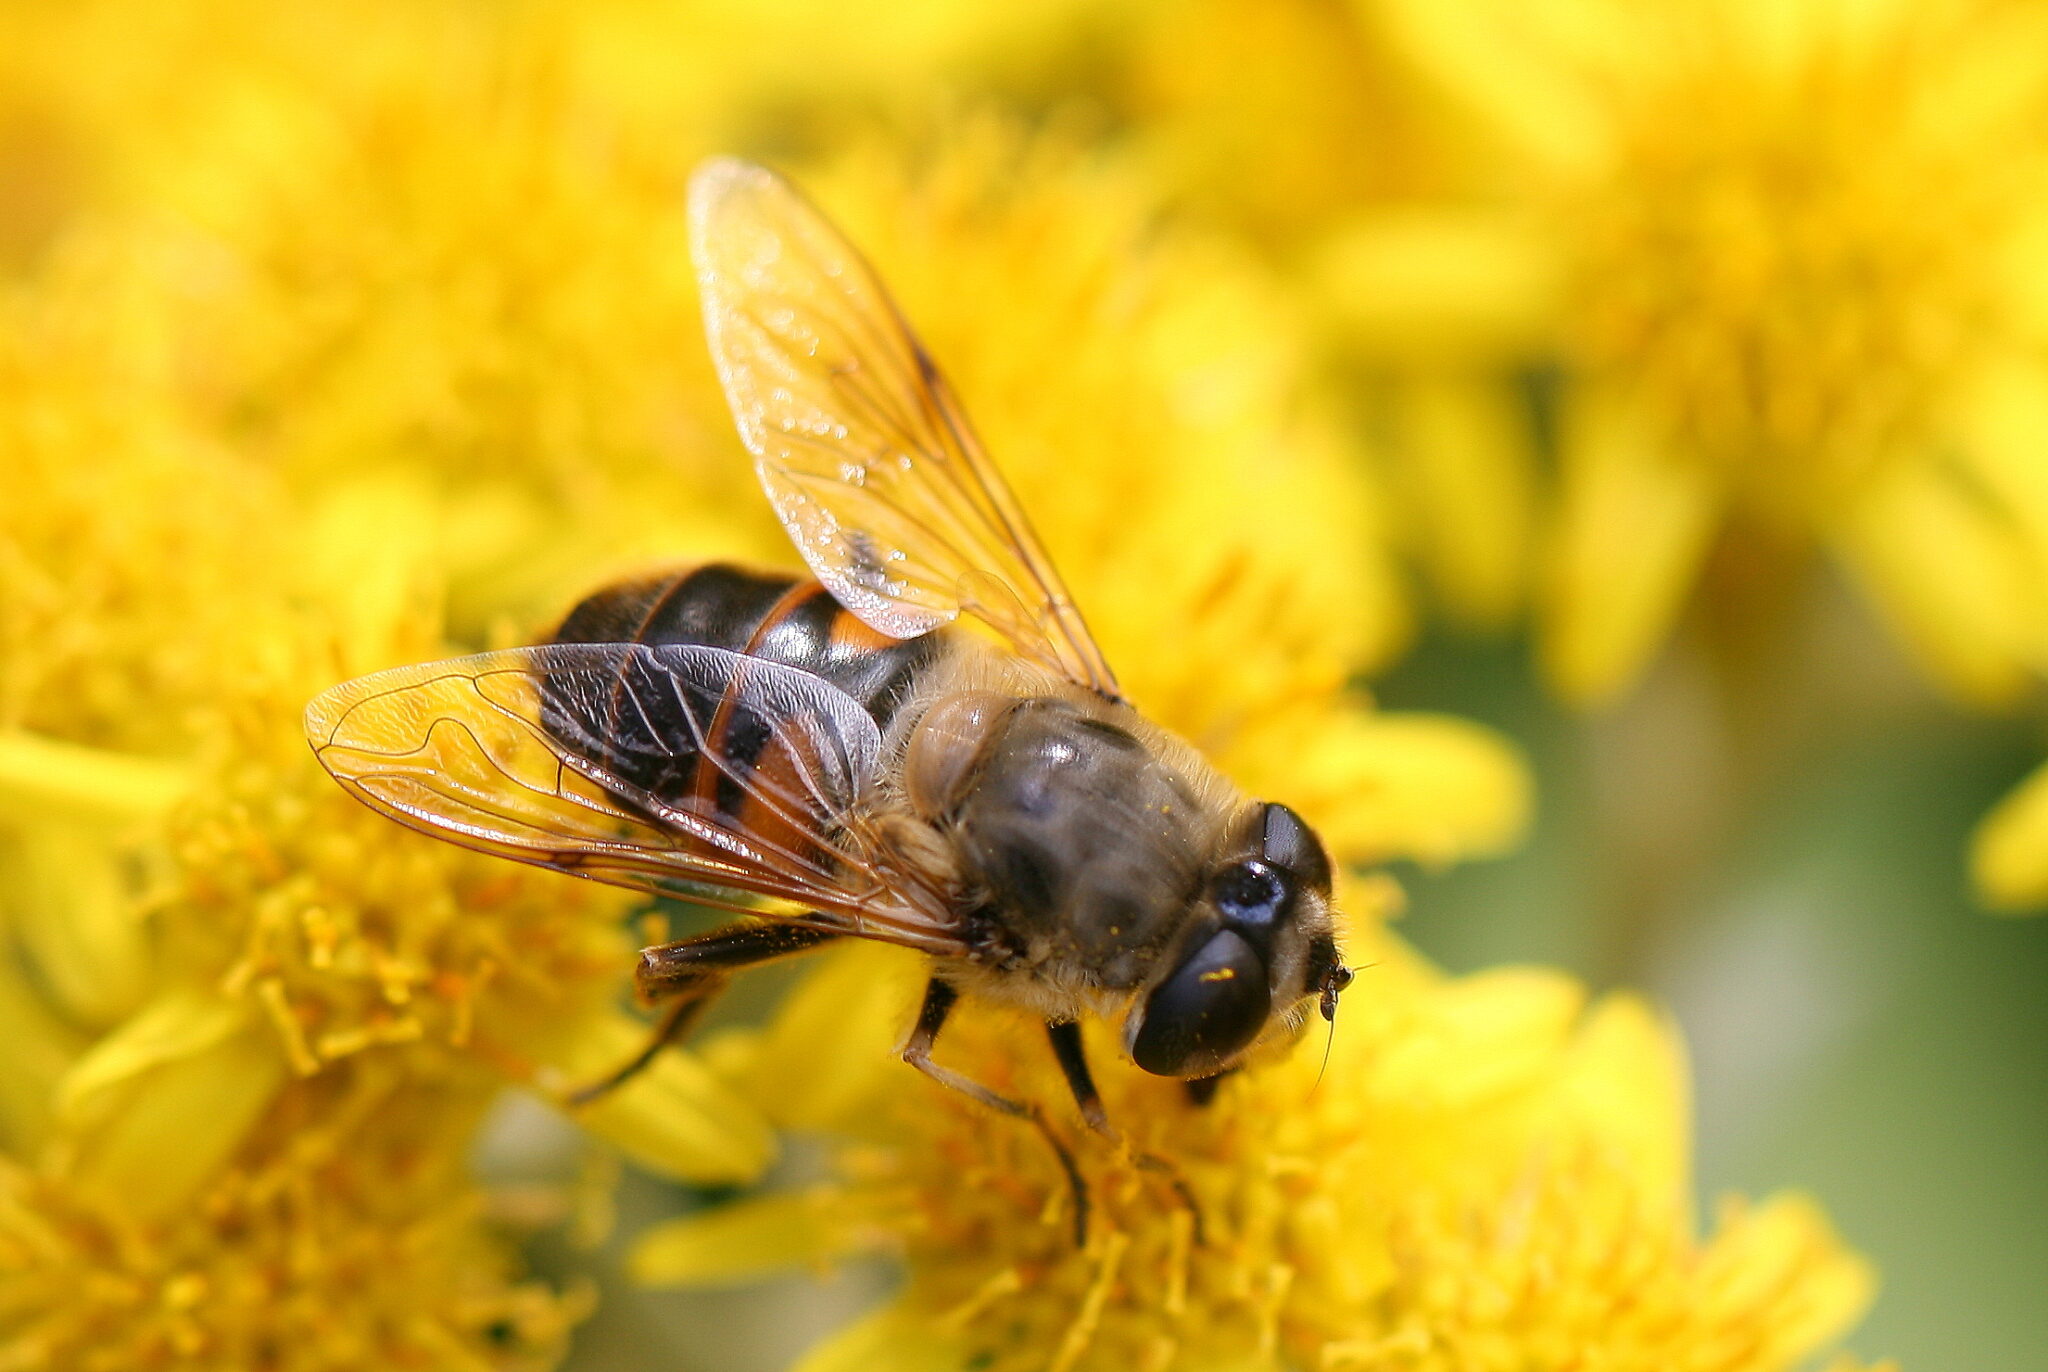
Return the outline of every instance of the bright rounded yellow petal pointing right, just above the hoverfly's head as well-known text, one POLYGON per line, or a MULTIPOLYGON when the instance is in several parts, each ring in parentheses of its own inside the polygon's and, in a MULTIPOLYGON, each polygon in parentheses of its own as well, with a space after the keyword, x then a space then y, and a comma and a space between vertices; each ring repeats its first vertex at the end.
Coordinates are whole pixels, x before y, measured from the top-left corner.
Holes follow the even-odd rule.
POLYGON ((1247 733, 1225 760, 1311 817, 1346 862, 1452 862, 1511 846, 1530 815, 1520 749, 1450 715, 1323 711, 1247 733))

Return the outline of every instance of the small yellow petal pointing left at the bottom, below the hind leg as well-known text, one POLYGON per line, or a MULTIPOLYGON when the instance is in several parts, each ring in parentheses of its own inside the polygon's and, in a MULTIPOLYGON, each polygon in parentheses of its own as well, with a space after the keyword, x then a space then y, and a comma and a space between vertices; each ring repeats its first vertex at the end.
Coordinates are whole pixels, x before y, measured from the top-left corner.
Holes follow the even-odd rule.
POLYGON ((645 1231, 627 1272, 647 1286, 743 1286, 817 1270, 854 1251, 846 1206, 834 1190, 748 1196, 645 1231))

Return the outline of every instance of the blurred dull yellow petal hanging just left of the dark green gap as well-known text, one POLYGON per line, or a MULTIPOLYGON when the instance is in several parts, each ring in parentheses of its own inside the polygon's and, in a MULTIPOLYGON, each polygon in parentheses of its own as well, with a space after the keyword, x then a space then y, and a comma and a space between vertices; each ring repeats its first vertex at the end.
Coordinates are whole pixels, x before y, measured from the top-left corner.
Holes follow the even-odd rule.
POLYGON ((1458 618, 1501 629, 1530 580, 1534 453, 1505 377, 1427 375, 1397 383, 1393 477, 1415 555, 1458 618))

